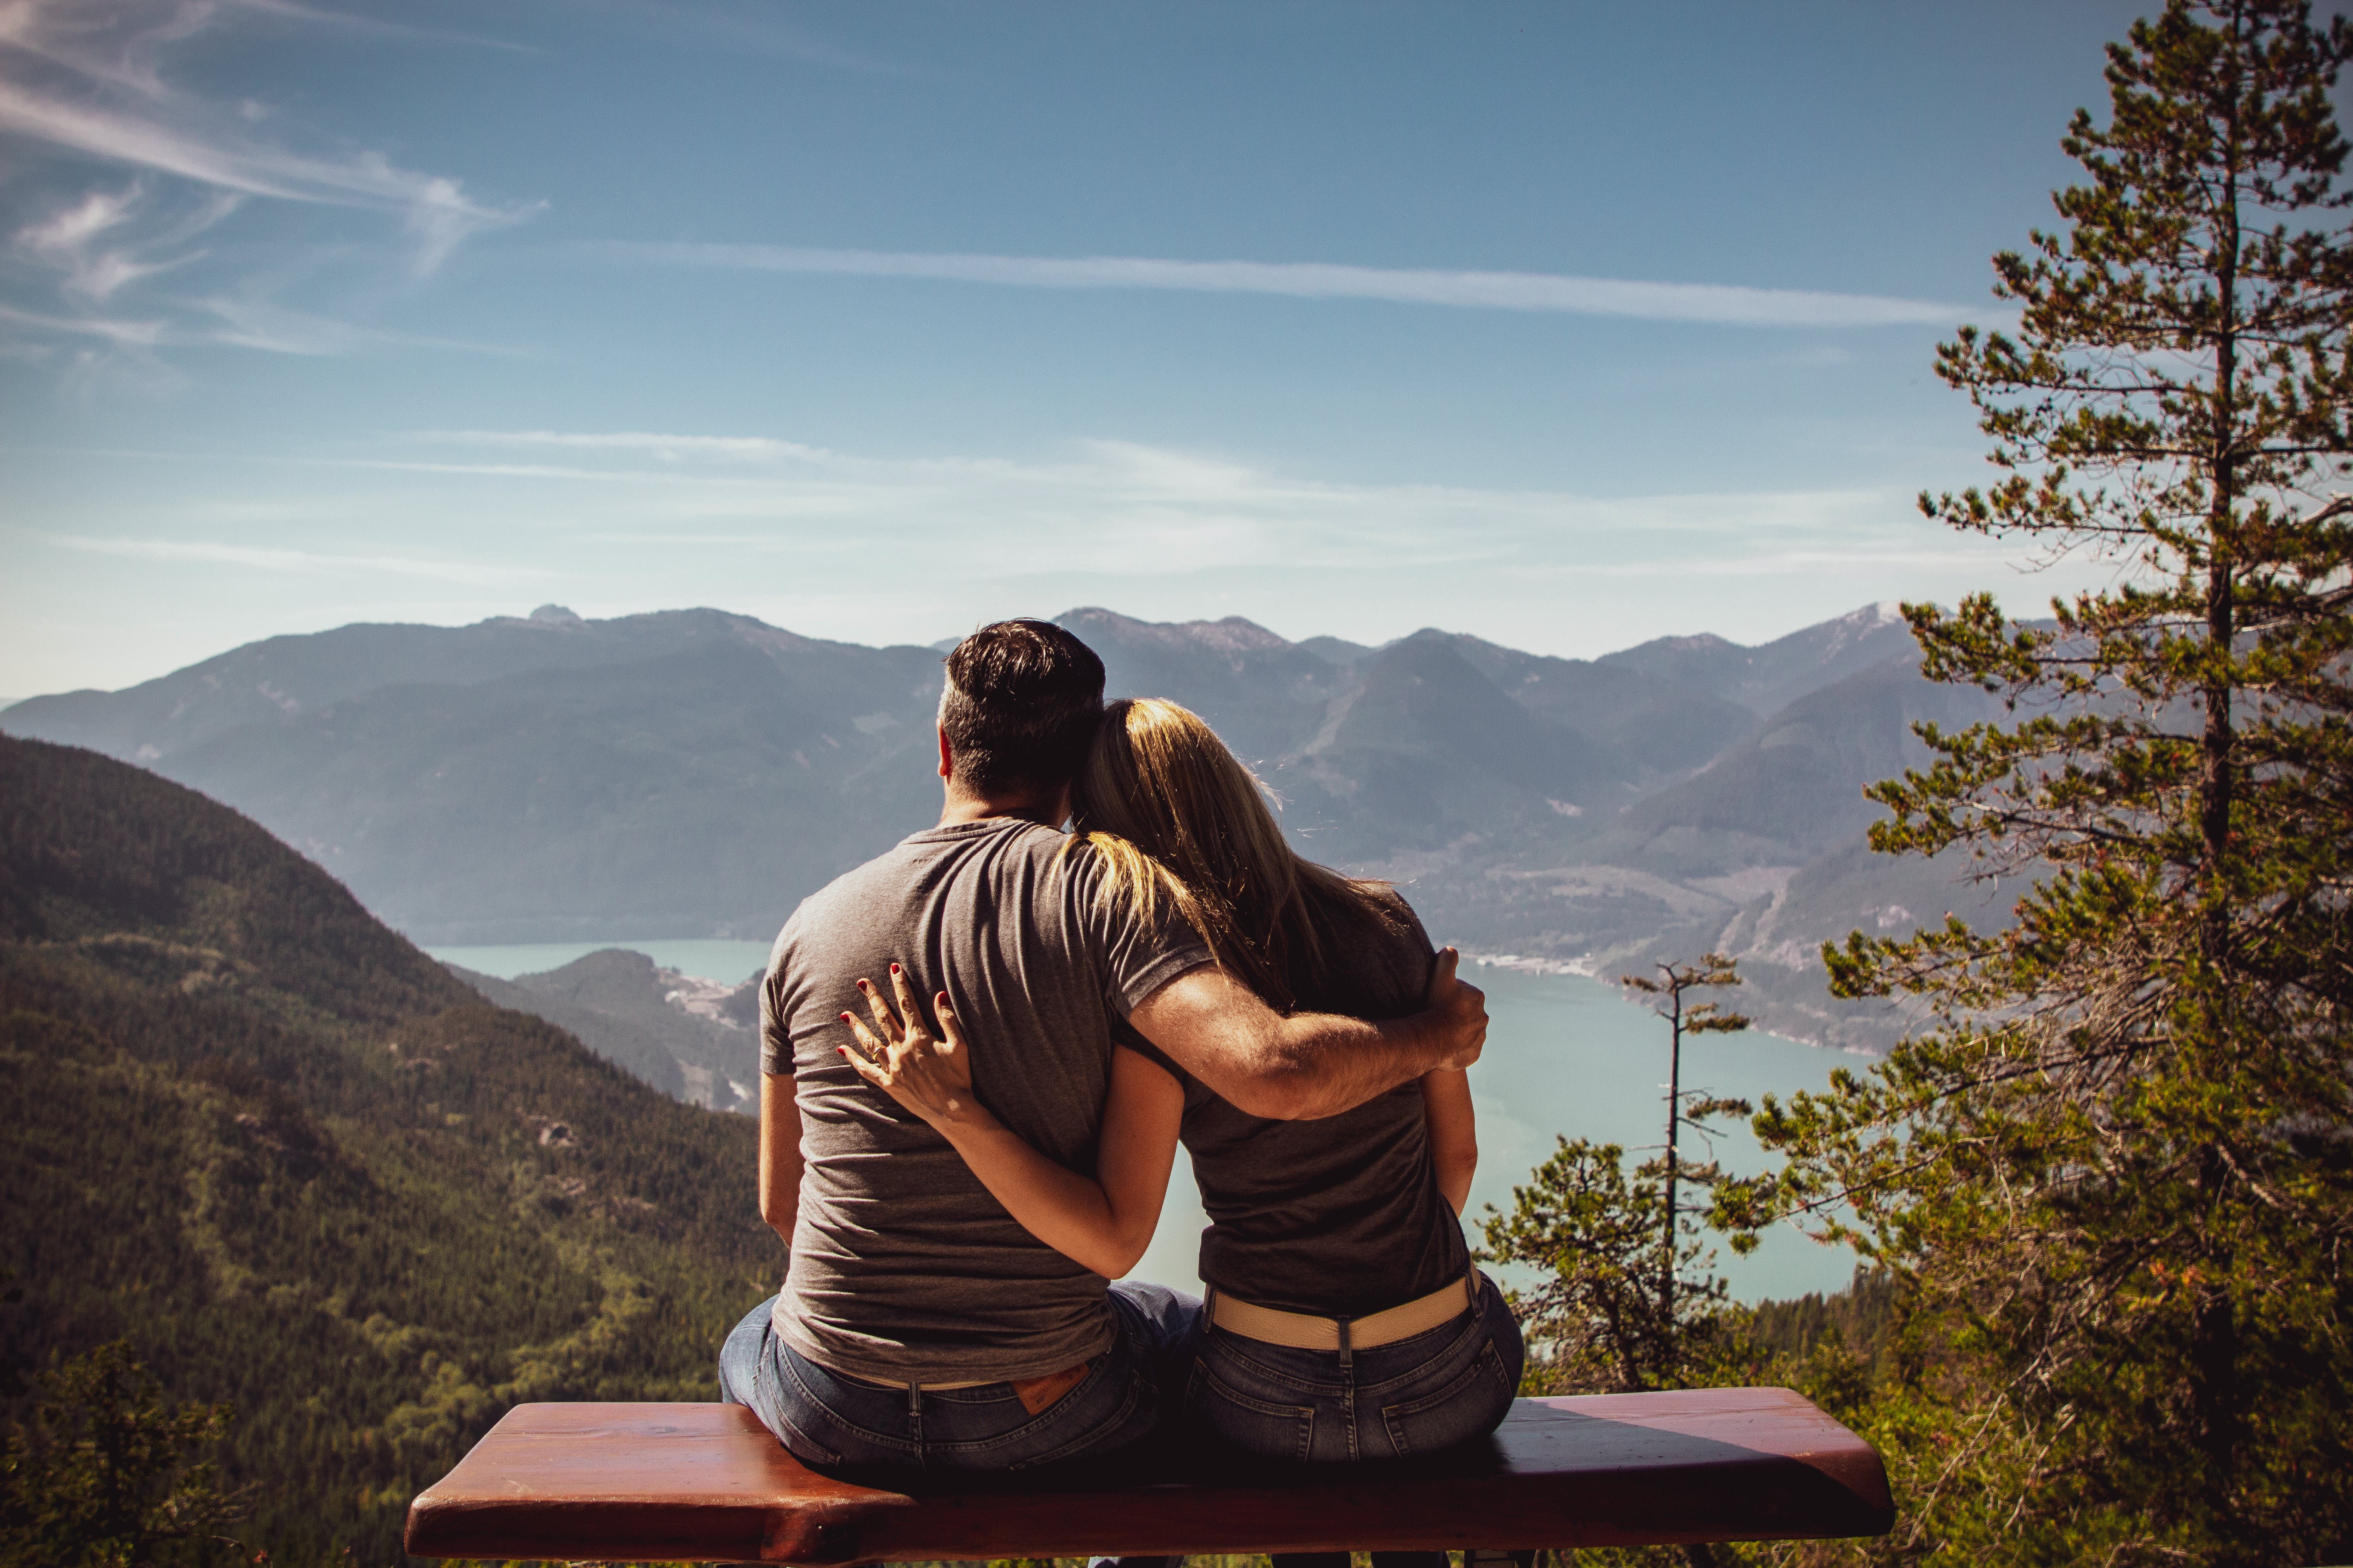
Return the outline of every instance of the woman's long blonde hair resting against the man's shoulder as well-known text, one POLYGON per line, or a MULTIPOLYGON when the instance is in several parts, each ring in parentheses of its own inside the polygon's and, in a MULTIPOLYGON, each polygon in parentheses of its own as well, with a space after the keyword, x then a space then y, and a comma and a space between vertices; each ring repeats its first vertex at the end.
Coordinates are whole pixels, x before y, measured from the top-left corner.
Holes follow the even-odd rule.
POLYGON ((1280 1011, 1322 990, 1334 943, 1400 926, 1386 884, 1292 853, 1266 785, 1176 703, 1104 708, 1071 785, 1071 827, 1073 849, 1104 858, 1099 898, 1125 898, 1146 922, 1174 907, 1226 973, 1280 1011))

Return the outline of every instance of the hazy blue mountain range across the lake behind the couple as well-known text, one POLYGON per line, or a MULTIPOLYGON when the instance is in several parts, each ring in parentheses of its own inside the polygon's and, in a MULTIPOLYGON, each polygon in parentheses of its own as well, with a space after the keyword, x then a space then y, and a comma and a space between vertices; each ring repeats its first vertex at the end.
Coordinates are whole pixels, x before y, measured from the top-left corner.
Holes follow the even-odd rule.
MULTIPOLYGON (((1395 879, 1478 952, 1617 973, 1720 945, 1760 1023, 1871 1046, 1892 1016, 1821 992, 1819 940, 1993 898, 1861 849, 1861 788, 1925 755, 1908 724, 1991 710, 1920 679, 1892 609, 1598 661, 1440 630, 1367 649, 1240 618, 1061 623, 1115 696, 1217 724, 1308 856, 1395 879)), ((765 938, 936 816, 939 658, 715 609, 544 607, 271 637, 16 703, 0 729, 247 811, 416 940, 765 938)), ((692 1098, 727 1095, 706 1079, 692 1098)))

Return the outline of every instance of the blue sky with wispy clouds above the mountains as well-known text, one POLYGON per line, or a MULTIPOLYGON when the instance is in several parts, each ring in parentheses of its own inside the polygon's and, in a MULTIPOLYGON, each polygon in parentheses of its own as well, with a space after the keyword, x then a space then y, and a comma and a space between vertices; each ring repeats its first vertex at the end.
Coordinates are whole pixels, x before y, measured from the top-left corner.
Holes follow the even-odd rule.
POLYGON ((1539 654, 2113 576, 1937 381, 2104 0, 0 0, 0 696, 351 621, 1539 654))

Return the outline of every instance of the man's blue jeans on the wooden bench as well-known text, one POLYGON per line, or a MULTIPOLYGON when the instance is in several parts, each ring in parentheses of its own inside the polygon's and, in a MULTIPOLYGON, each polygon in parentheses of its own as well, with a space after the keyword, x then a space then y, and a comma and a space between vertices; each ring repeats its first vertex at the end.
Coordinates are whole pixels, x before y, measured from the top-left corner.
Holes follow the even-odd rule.
POLYGON ((1200 1335, 1200 1300, 1115 1284, 1118 1338, 1087 1375, 1035 1415, 1009 1382, 969 1389, 882 1387, 816 1366, 774 1331, 774 1298, 720 1347, 720 1399, 751 1406, 812 1469, 1028 1469, 1127 1448, 1160 1420, 1200 1335))

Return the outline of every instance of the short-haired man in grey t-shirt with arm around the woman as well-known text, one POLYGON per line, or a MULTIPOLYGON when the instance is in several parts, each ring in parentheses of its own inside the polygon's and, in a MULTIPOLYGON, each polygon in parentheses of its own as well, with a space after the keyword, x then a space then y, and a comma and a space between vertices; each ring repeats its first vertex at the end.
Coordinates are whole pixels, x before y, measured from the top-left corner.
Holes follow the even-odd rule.
POLYGON ((1049 1159, 1094 1168, 1111 1032, 1261 1117, 1329 1117, 1433 1067, 1466 1067, 1485 1001, 1433 980, 1393 1023, 1282 1018, 1200 938, 1101 905, 1056 825, 1101 722, 1104 663, 1045 621, 986 625, 948 656, 939 825, 809 896, 760 987, 760 1213, 784 1291, 727 1338, 720 1385, 819 1467, 1021 1469, 1146 1436, 1198 1305, 1108 1286, 1033 1239, 955 1150, 842 1058, 861 980, 953 983, 972 1088, 1049 1159))

